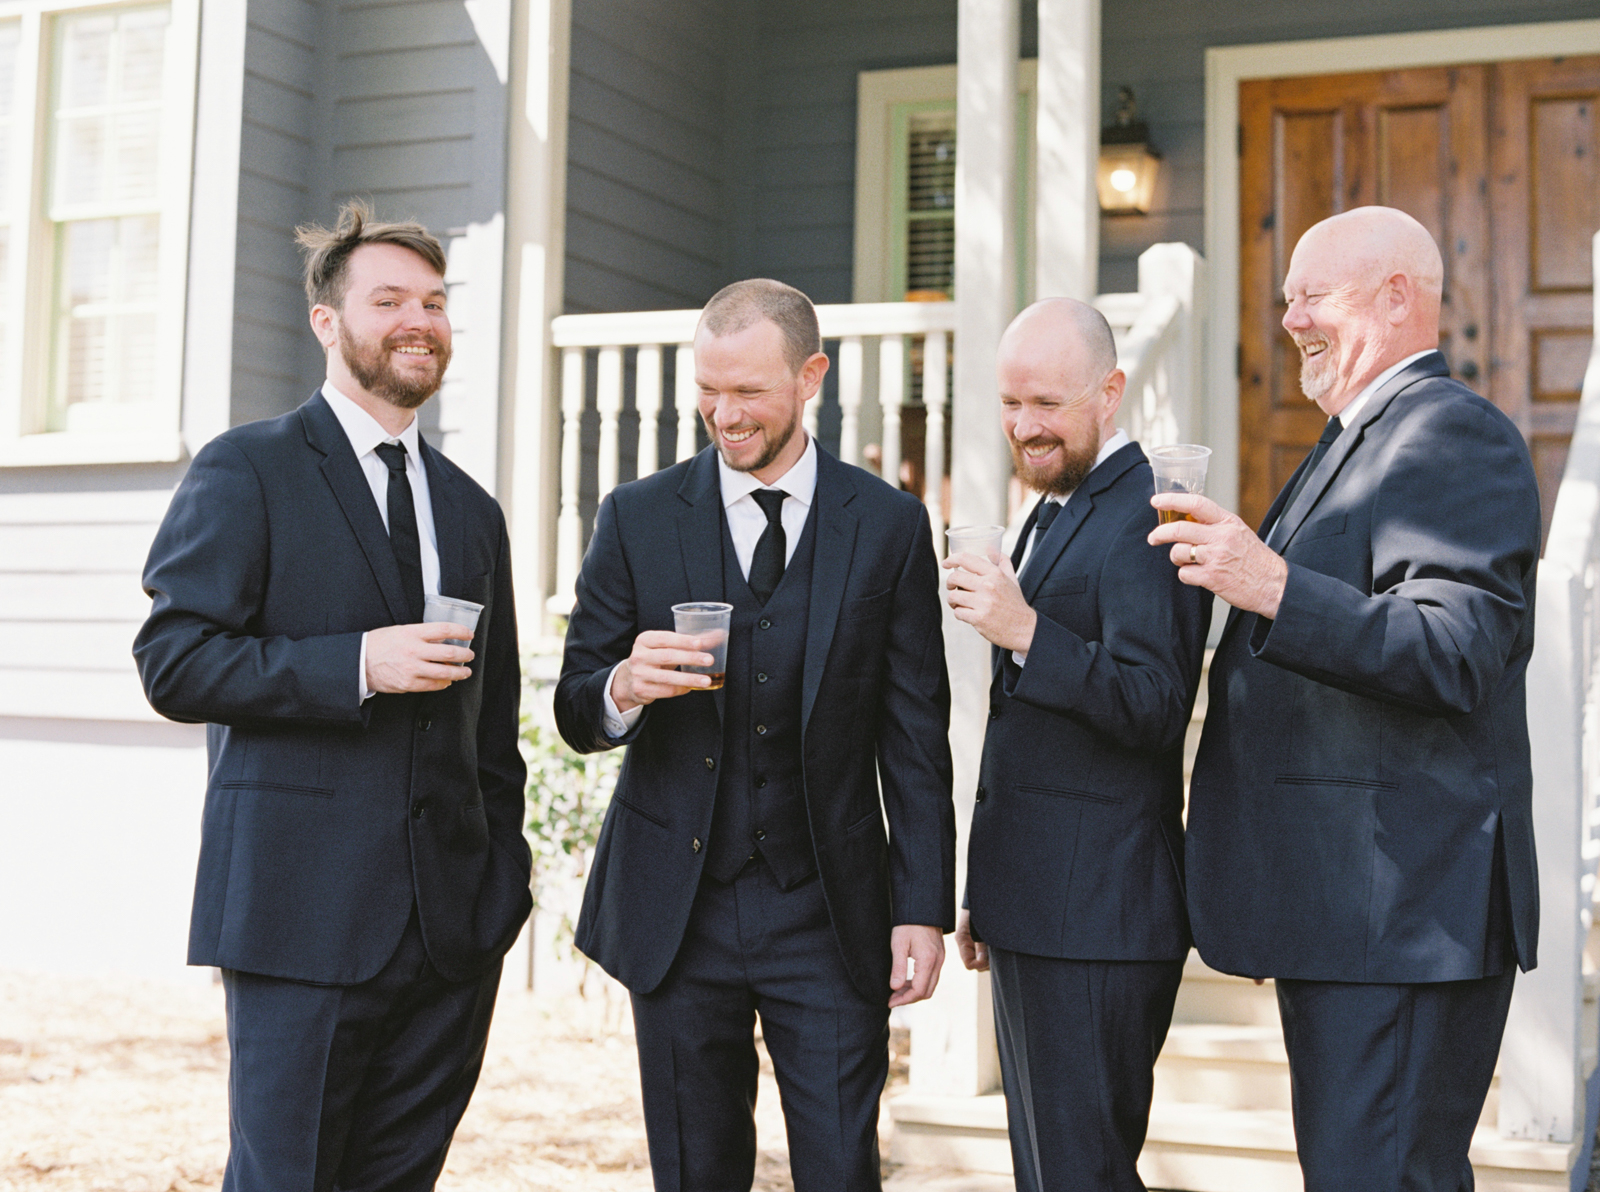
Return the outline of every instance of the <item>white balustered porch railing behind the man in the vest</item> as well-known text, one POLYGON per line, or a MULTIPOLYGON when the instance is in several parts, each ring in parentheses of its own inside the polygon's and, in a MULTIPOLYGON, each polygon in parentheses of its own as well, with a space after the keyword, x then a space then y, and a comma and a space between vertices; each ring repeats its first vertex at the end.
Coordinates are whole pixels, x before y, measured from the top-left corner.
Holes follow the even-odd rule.
MULTIPOLYGON (((880 470, 901 474, 901 410, 918 389, 909 371, 917 347, 922 349, 920 405, 926 411, 923 434, 923 490, 934 541, 944 541, 944 453, 949 424, 949 358, 955 331, 954 302, 856 302, 819 306, 818 323, 824 342, 837 344, 838 360, 838 454, 851 464, 862 461, 862 403, 877 406, 880 470), (875 352, 875 370, 867 368, 875 352), (869 395, 869 381, 874 381, 869 395)), ((555 531, 555 595, 550 611, 571 608, 578 566, 582 562, 581 520, 584 466, 584 411, 587 406, 587 357, 598 349, 595 363, 595 501, 603 501, 622 477, 621 426, 632 408, 638 419, 638 451, 634 475, 643 477, 662 466, 659 430, 664 416, 675 422, 677 459, 698 450, 699 394, 694 387, 694 323, 699 310, 645 310, 602 315, 560 315, 550 320, 550 339, 562 358, 562 475, 560 512, 555 531), (632 403, 624 392, 626 354, 634 350, 632 403), (664 406, 667 354, 674 355, 672 408, 664 406)), ((834 403, 830 402, 830 405, 834 403)), ((816 434, 821 398, 806 403, 805 427, 816 434)))

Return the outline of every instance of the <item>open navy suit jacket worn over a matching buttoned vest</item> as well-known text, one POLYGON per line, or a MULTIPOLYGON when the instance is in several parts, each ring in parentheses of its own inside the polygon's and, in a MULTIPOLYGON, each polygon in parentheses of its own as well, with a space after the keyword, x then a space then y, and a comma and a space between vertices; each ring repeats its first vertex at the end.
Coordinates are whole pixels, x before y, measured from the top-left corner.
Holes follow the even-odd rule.
MULTIPOLYGON (((890 992, 891 925, 955 926, 938 563, 915 498, 821 448, 811 517, 805 802, 845 966, 864 997, 878 998, 890 992)), ((722 525, 712 448, 602 502, 555 686, 557 725, 573 749, 619 744, 602 726, 603 691, 634 638, 672 629, 672 605, 723 598, 722 525)), ((578 947, 638 994, 661 984, 694 902, 725 699, 726 690, 658 699, 621 741, 627 757, 595 848, 578 947)))

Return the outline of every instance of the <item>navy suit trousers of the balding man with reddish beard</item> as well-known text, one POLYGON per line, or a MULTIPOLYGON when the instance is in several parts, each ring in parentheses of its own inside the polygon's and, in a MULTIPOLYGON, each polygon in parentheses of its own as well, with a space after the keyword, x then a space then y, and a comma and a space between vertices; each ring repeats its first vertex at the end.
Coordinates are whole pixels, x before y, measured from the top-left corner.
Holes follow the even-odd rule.
POLYGON ((989 947, 1018 1192, 1144 1192, 1155 1058, 1182 960, 1059 960, 989 947))

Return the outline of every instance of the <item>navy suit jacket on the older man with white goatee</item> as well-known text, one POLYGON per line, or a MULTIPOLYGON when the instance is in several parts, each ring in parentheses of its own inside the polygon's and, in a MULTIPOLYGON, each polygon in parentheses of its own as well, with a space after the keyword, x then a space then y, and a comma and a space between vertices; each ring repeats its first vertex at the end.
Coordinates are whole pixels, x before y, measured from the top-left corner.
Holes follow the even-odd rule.
POLYGON ((1509 928, 1533 968, 1522 434, 1432 352, 1285 494, 1264 523, 1290 568, 1278 614, 1230 613, 1211 662, 1187 837, 1200 955, 1243 976, 1461 981, 1501 971, 1509 928))

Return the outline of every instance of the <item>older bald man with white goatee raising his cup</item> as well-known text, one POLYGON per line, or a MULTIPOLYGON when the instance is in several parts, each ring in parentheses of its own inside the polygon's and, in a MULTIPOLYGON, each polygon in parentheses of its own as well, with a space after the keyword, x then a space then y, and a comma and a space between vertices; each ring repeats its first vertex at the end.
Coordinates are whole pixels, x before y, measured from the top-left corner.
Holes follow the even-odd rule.
POLYGON ((1152 531, 1234 608, 1189 797, 1213 968, 1275 978, 1307 1192, 1470 1189, 1539 931, 1525 672, 1539 494, 1438 352, 1443 264, 1390 208, 1312 227, 1283 326, 1322 440, 1259 536, 1200 496, 1152 531))

